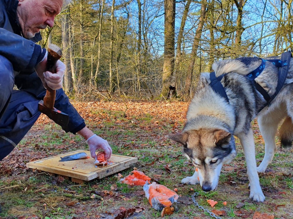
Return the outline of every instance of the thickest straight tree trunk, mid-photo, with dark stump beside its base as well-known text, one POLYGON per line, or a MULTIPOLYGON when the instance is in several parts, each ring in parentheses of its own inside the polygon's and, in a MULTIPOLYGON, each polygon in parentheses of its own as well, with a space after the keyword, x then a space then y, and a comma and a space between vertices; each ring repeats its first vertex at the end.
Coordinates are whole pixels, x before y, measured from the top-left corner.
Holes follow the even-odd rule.
POLYGON ((170 86, 170 77, 173 76, 175 58, 175 9, 174 0, 164 0, 165 8, 165 46, 163 64, 163 84, 161 96, 166 97, 170 86))

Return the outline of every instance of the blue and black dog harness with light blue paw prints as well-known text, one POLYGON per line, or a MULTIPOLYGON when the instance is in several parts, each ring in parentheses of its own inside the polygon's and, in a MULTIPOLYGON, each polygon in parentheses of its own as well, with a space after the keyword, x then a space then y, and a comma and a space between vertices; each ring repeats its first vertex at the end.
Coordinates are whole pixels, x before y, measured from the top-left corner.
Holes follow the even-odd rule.
MULTIPOLYGON (((263 60, 261 58, 261 64, 258 66, 255 70, 250 72, 249 74, 245 75, 249 80, 254 81, 254 85, 256 90, 263 95, 263 98, 267 101, 267 105, 270 105, 270 103, 274 100, 274 98, 277 96, 277 94, 280 92, 282 86, 285 83, 285 80, 287 78, 287 74, 289 71, 289 65, 290 65, 290 58, 292 57, 291 51, 287 51, 285 53, 282 53, 281 59, 268 59, 268 60, 263 60), (275 65, 277 68, 279 68, 278 71, 278 84, 276 88, 276 92, 270 96, 265 89, 260 86, 254 79, 258 77, 263 69, 265 68, 265 62, 271 62, 273 65, 275 65)), ((227 73, 226 73, 227 74, 227 73)), ((222 78, 226 74, 221 74, 220 76, 216 77, 215 72, 211 72, 209 74, 209 78, 211 80, 211 83, 209 86, 212 87, 212 89, 219 95, 221 95, 225 100, 229 103, 229 98, 226 94, 226 91, 221 84, 222 78)))

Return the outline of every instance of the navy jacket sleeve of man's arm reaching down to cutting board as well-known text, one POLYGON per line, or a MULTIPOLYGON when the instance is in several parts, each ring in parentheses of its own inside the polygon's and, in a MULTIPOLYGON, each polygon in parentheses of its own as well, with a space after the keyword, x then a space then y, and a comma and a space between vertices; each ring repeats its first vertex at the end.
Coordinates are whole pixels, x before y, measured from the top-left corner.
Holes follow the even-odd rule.
MULTIPOLYGON (((17 85, 19 90, 26 91, 39 100, 44 99, 46 89, 44 88, 42 81, 38 77, 36 72, 30 75, 17 75, 15 77, 15 84, 17 85)), ((62 127, 64 131, 76 134, 76 132, 80 131, 86 126, 86 124, 84 123, 84 119, 79 115, 74 106, 72 106, 72 104, 69 102, 69 99, 62 88, 56 91, 56 100, 54 107, 56 109, 59 109, 61 112, 69 115, 68 125, 62 127)))

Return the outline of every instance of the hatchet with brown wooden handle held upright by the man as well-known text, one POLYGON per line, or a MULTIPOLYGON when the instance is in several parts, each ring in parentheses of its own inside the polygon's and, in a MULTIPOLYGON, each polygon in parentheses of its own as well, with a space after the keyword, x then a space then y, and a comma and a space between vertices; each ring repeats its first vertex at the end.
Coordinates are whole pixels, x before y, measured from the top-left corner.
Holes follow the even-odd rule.
MULTIPOLYGON (((56 73, 56 63, 61 58, 61 56, 62 51, 59 46, 56 46, 55 44, 49 44, 46 70, 52 72, 53 74, 56 73)), ((38 109, 58 125, 62 127, 67 126, 69 122, 69 115, 54 107, 55 98, 56 91, 48 87, 44 100, 41 100, 38 104, 38 109)))

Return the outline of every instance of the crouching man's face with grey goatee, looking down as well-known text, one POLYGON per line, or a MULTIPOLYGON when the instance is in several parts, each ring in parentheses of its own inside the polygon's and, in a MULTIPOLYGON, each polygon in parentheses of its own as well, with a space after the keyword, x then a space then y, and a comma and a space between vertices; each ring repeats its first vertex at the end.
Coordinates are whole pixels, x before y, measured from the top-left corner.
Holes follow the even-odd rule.
POLYGON ((63 0, 19 0, 17 16, 23 36, 34 37, 40 29, 53 27, 62 4, 63 0))

